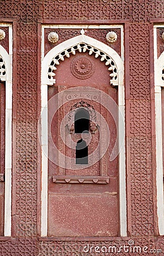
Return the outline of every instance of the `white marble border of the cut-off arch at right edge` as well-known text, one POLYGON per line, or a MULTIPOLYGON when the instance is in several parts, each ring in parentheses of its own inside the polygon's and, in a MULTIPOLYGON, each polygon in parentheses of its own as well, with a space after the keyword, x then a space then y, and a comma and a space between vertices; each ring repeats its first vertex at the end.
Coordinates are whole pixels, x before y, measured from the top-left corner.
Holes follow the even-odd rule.
POLYGON ((164 67, 164 52, 157 57, 157 28, 162 25, 154 25, 154 92, 156 113, 156 184, 157 184, 157 216, 158 230, 164 235, 164 201, 163 201, 163 161, 162 161, 162 102, 161 88, 164 87, 162 70, 164 67))

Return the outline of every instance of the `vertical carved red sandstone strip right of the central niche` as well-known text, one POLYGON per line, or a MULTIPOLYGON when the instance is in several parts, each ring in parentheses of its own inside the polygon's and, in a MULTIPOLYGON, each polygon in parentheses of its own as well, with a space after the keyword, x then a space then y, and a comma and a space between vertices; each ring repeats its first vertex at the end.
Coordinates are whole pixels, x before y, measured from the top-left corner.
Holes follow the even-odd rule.
POLYGON ((133 100, 130 101, 130 136, 132 136, 130 138, 130 182, 132 236, 151 236, 154 229, 149 72, 149 24, 131 24, 130 95, 133 100))

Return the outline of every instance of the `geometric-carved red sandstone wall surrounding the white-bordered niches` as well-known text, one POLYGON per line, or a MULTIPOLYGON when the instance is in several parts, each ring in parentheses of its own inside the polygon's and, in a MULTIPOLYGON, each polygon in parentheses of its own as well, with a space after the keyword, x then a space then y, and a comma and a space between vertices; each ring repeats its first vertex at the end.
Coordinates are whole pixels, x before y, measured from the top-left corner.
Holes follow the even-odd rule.
MULTIPOLYGON (((86 20, 87 24, 124 24, 128 236, 136 245, 164 247, 164 238, 157 237, 151 23, 152 19, 164 23, 163 7, 161 0, 1 0, 1 22, 14 25, 12 236, 17 237, 2 238, 2 256, 60 255, 59 251, 61 255, 83 255, 81 241, 37 240, 40 235, 40 146, 37 141, 40 26, 46 22, 80 23, 86 20)), ((122 245, 123 242, 121 238, 118 241, 90 241, 90 245, 97 243, 122 245)))

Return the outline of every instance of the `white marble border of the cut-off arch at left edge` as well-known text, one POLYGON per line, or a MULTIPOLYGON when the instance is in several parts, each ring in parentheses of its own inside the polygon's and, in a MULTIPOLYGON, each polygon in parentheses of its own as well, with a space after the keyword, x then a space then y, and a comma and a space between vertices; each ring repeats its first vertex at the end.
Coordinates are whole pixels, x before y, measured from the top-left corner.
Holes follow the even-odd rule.
POLYGON ((8 27, 9 53, 0 45, 0 55, 6 67, 6 106, 5 106, 5 227, 4 236, 11 236, 11 177, 12 177, 12 25, 8 27))

